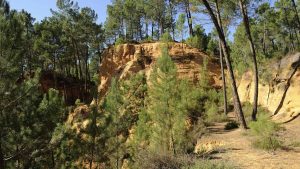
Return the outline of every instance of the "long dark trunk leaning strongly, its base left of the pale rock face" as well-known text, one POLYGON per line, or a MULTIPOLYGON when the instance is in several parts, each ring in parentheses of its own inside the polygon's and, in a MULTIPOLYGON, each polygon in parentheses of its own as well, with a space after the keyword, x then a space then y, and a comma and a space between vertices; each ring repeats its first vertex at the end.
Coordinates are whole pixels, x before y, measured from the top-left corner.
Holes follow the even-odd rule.
POLYGON ((243 113, 243 110, 242 110, 242 105, 241 105, 240 98, 239 98, 238 91, 237 91, 236 81, 235 81, 235 77, 234 77, 234 73, 233 73, 233 69, 232 69, 232 65, 231 65, 231 61, 230 61, 229 48, 227 46, 225 35, 222 32, 222 29, 221 29, 220 25, 218 24, 217 18, 215 16, 212 8, 210 7, 208 1, 207 0, 200 0, 200 1, 202 1, 203 4, 205 5, 205 7, 206 7, 213 23, 214 23, 214 25, 216 27, 216 30, 217 30, 218 35, 219 35, 219 39, 221 40, 221 45, 222 45, 222 48, 223 48, 223 51, 224 51, 224 57, 225 57, 226 65, 227 65, 227 68, 229 70, 229 76, 231 78, 231 86, 232 86, 232 90, 233 90, 233 99, 234 99, 235 110, 236 110, 236 113, 239 116, 242 127, 244 129, 247 129, 247 124, 246 124, 246 121, 245 121, 244 113, 243 113))

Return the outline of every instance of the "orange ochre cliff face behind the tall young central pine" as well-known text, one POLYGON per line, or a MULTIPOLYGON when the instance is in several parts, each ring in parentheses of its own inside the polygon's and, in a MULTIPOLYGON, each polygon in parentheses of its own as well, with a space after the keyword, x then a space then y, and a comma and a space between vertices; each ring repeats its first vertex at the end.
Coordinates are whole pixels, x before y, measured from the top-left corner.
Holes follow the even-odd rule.
MULTIPOLYGON (((100 65, 100 95, 105 95, 111 79, 124 79, 128 76, 145 71, 147 78, 157 58, 161 56, 162 43, 124 44, 107 49, 100 65)), ((178 76, 192 82, 199 79, 200 68, 204 58, 208 60, 210 83, 220 87, 220 67, 214 60, 198 49, 182 43, 169 44, 169 54, 177 66, 178 76)))

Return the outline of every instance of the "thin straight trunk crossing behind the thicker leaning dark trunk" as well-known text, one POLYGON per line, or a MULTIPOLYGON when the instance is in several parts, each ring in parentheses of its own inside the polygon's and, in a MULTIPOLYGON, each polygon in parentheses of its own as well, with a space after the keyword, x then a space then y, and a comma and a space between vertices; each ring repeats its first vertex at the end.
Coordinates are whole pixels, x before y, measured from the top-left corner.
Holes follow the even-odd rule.
MULTIPOLYGON (((218 23, 220 25, 220 28, 221 28, 222 32, 224 33, 218 0, 215 0, 215 4, 216 4, 216 10, 217 10, 218 23)), ((221 65, 221 72, 222 72, 222 82, 223 82, 224 114, 227 115, 227 112, 228 112, 227 107, 228 106, 227 106, 227 93, 226 93, 226 79, 225 79, 225 73, 224 73, 223 50, 222 50, 221 40, 219 40, 219 50, 220 50, 219 57, 220 57, 220 65, 221 65)))

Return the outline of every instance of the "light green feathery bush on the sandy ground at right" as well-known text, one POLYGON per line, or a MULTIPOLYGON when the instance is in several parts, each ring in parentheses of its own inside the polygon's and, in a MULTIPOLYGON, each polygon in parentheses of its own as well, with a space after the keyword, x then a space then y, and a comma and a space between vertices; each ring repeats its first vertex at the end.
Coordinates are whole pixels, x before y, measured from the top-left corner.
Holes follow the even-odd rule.
POLYGON ((279 140, 277 135, 281 127, 268 118, 266 115, 260 115, 256 122, 250 122, 250 131, 255 136, 253 146, 275 151, 282 147, 282 141, 279 140))

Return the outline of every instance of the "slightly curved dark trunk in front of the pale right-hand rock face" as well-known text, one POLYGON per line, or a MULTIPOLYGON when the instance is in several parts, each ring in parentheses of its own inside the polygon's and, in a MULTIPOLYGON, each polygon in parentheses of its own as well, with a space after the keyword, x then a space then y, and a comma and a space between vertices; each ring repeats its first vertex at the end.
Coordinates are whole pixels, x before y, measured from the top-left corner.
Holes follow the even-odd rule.
POLYGON ((253 59, 253 66, 254 66, 254 98, 253 98, 253 110, 252 110, 252 120, 256 121, 256 114, 257 114, 257 102, 258 102, 258 68, 257 68, 257 61, 256 61, 256 51, 251 35, 251 30, 250 30, 250 23, 249 23, 249 18, 247 14, 247 9, 245 8, 245 4, 243 0, 239 1, 240 8, 243 14, 243 22, 246 30, 246 34, 248 36, 248 40, 250 43, 250 48, 252 52, 252 59, 253 59))

